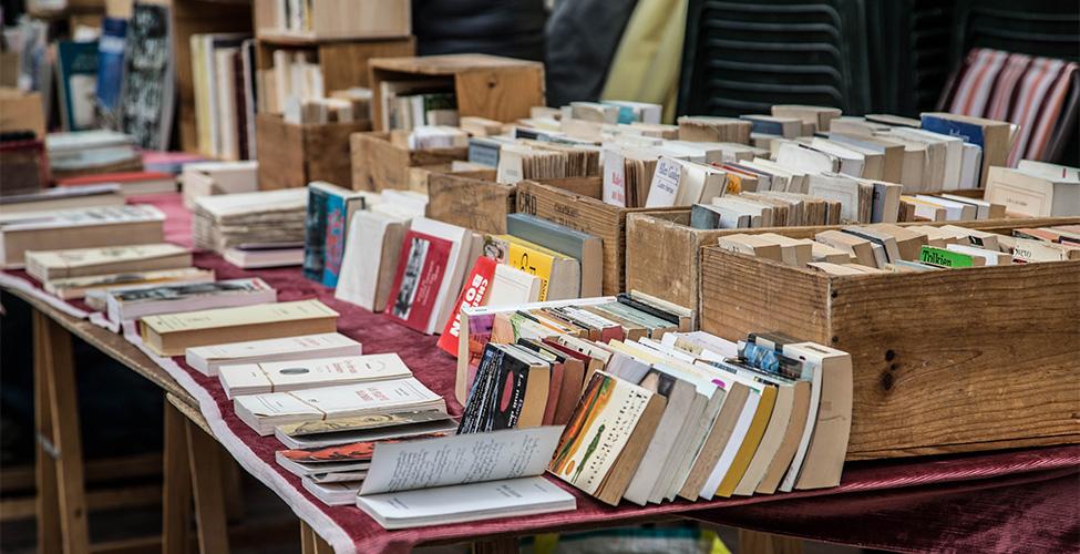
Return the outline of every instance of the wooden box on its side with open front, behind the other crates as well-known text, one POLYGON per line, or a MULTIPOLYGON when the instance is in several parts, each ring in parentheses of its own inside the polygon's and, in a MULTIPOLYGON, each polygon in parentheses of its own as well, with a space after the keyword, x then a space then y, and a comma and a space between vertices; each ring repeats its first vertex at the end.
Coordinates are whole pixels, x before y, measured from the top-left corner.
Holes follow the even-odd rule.
POLYGON ((382 58, 371 68, 371 120, 384 131, 379 83, 418 78, 453 81, 457 112, 495 121, 528 117, 529 107, 545 105, 544 64, 486 54, 449 54, 421 58, 382 58))

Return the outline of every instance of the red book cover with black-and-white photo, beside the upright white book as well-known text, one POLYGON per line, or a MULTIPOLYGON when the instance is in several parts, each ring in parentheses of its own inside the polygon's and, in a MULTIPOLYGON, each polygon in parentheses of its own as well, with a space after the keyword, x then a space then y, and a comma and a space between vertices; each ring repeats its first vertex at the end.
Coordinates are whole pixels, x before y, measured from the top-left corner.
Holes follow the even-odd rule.
POLYGON ((439 311, 435 301, 452 246, 450 240, 423 233, 410 230, 405 234, 387 301, 387 315, 405 327, 428 332, 429 320, 439 311))

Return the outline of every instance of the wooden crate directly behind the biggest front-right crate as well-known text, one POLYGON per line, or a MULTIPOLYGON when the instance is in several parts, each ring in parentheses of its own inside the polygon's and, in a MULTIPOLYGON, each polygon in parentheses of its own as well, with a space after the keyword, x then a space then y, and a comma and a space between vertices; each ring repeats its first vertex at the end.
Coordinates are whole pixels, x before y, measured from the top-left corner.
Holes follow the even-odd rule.
MULTIPOLYGON (((908 225, 960 225, 979 230, 1006 230, 1014 225, 1038 227, 1058 219, 983 219, 976 222, 914 222, 908 225)), ((792 238, 814 238, 825 229, 814 227, 761 227, 751 229, 696 229, 690 227, 690 211, 645 211, 630 214, 626 222, 626 288, 652 295, 679 306, 700 310, 699 250, 712 246, 723 235, 778 233, 792 238)))

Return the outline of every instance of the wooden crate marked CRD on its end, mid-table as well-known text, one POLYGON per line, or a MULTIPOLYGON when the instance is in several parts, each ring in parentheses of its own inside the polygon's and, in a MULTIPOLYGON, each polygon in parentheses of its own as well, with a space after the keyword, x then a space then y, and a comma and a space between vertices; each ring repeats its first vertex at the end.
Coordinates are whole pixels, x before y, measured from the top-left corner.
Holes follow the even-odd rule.
MULTIPOLYGON (((628 214, 657 209, 605 204, 599 199, 604 186, 601 177, 576 177, 576 181, 589 186, 569 191, 560 181, 518 183, 517 211, 603 239, 604 294, 619 294, 625 290, 626 217, 628 214)), ((660 208, 659 212, 673 209, 678 208, 660 208)))

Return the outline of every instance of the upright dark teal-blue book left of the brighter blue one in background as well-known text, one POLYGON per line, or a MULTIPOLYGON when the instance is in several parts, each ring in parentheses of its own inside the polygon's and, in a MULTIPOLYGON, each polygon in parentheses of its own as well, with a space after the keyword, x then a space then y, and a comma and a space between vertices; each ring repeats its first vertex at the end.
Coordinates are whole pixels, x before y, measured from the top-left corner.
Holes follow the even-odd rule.
POLYGON ((64 130, 96 127, 97 41, 61 41, 56 45, 56 73, 64 130))

